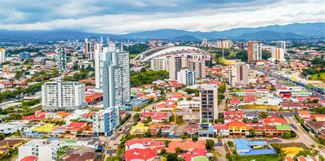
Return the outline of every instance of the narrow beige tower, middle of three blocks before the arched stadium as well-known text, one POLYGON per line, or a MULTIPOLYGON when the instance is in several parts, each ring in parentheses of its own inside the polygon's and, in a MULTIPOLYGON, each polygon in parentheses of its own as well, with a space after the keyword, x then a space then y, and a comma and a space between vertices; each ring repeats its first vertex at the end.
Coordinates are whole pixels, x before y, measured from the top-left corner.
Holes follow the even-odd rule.
POLYGON ((177 72, 182 69, 182 56, 172 55, 168 58, 169 79, 177 80, 177 72))

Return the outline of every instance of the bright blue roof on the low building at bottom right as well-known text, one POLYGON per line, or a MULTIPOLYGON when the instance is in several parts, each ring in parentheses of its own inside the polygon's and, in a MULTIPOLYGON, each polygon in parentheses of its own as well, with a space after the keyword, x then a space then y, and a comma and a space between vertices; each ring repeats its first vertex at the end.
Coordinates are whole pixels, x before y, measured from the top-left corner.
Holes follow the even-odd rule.
POLYGON ((248 141, 245 139, 234 139, 234 144, 236 145, 237 152, 239 153, 239 155, 242 155, 242 156, 276 153, 276 151, 274 149, 261 149, 261 150, 252 149, 251 146, 254 146, 254 145, 255 146, 256 145, 267 145, 267 142, 265 142, 265 141, 248 141))

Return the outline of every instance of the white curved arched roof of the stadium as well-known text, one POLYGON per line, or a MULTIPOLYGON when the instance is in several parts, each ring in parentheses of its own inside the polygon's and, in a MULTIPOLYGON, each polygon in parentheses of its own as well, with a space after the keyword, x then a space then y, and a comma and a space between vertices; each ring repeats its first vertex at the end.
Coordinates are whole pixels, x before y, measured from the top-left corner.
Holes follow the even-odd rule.
POLYGON ((145 57, 142 61, 150 61, 154 57, 160 57, 163 55, 171 55, 171 54, 178 54, 178 53, 206 53, 206 51, 195 48, 192 46, 174 46, 171 48, 165 48, 163 50, 159 50, 156 53, 153 53, 152 55, 149 55, 148 57, 145 57))

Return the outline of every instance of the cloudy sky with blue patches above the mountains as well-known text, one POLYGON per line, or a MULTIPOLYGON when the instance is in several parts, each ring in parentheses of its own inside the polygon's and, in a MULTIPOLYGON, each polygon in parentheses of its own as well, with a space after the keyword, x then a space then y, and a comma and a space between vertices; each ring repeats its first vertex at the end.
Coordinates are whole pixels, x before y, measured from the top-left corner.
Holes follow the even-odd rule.
POLYGON ((0 0, 0 29, 130 33, 325 22, 324 0, 0 0))

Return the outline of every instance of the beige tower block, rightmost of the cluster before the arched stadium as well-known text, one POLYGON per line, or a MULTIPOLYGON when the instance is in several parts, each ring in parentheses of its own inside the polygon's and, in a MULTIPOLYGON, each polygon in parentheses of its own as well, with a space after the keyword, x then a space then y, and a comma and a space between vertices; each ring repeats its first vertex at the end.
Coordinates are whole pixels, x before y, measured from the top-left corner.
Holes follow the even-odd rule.
POLYGON ((188 59, 187 70, 195 72, 195 78, 206 78, 205 61, 200 59, 188 59))

